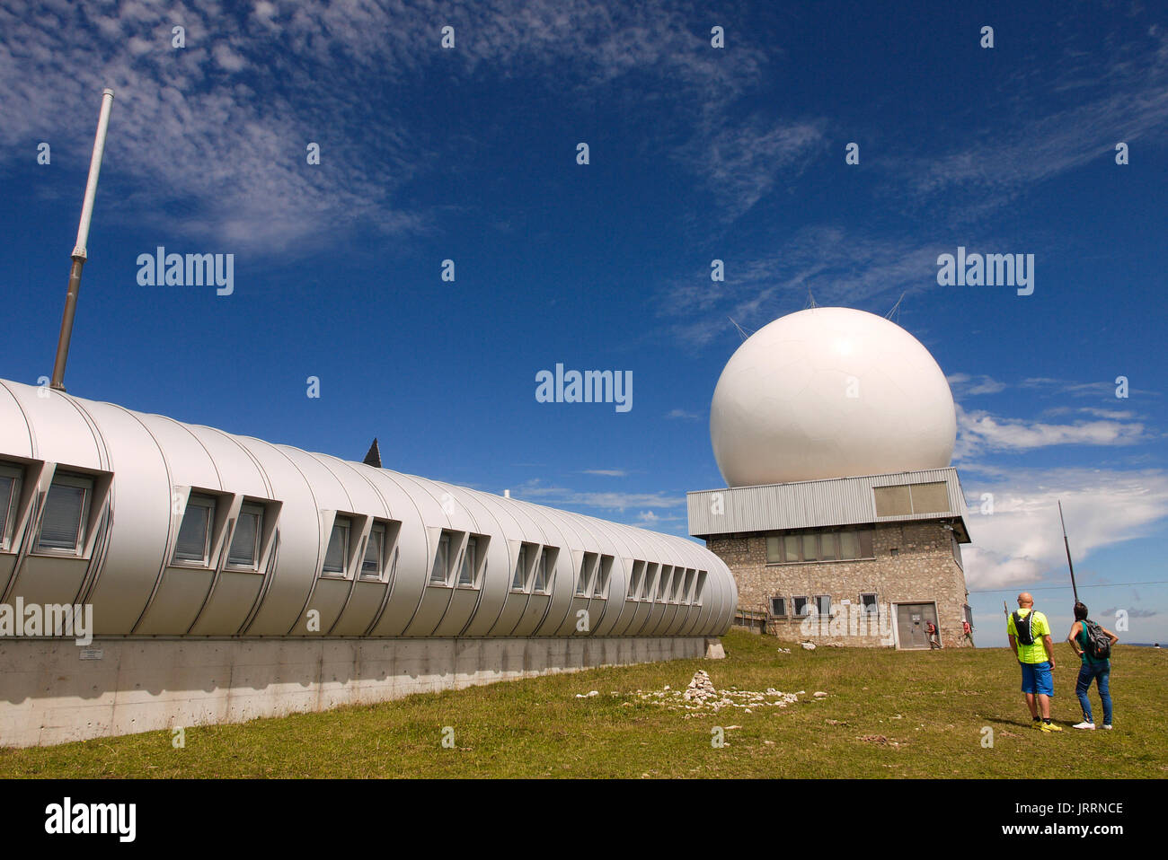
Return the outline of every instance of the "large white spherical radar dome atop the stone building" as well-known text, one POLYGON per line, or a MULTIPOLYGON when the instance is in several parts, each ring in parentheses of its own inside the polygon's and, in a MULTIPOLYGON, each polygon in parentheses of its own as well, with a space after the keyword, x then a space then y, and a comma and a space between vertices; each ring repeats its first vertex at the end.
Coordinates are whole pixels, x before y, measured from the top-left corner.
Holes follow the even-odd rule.
POLYGON ((730 356, 710 440, 729 487, 939 469, 953 456, 957 414, 916 337, 864 310, 811 308, 730 356))

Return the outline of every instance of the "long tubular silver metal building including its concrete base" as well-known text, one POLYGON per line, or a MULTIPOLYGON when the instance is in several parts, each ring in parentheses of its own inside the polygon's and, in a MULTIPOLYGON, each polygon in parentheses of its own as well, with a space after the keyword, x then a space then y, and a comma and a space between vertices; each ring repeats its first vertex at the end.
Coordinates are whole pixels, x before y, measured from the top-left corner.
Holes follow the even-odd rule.
POLYGON ((721 656, 736 603, 684 538, 0 379, 0 746, 721 656))

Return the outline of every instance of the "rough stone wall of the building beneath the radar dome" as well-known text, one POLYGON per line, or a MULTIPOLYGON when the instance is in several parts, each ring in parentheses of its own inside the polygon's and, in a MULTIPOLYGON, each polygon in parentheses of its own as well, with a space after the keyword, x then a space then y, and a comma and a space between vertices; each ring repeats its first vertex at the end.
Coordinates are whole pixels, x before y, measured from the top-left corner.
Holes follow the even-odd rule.
POLYGON ((961 625, 968 594, 965 573, 953 555, 952 533, 938 522, 880 523, 872 529, 875 558, 854 561, 767 564, 766 538, 779 531, 715 537, 707 546, 734 573, 739 609, 770 616, 770 599, 787 599, 787 617, 766 621, 767 632, 779 638, 888 646, 892 603, 936 603, 943 646, 969 645, 961 625), (870 593, 876 594, 882 618, 860 611, 860 595, 870 593), (841 601, 851 601, 842 608, 842 617, 815 618, 811 624, 792 617, 792 597, 825 594, 832 597, 833 613, 841 601))

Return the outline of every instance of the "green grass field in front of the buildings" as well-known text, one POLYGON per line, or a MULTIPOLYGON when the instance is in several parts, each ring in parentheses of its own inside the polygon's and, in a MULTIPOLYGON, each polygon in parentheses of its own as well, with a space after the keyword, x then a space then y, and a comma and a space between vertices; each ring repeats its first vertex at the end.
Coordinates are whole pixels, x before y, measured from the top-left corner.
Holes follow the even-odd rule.
MULTIPOLYGON (((724 660, 676 660, 413 695, 328 713, 194 727, 186 748, 150 732, 39 749, 0 749, 0 777, 1159 777, 1168 775, 1166 655, 1120 646, 1113 732, 1076 732, 1078 662, 1058 646, 1052 715, 1029 728, 1003 649, 778 653, 734 631, 724 660), (705 669, 719 690, 807 691, 786 708, 684 718, 634 691, 684 687, 705 669), (585 699, 576 693, 598 690, 585 699), (812 693, 829 695, 815 701, 812 693), (613 697, 611 691, 621 695, 613 697), (635 701, 633 707, 623 702, 635 701), (711 728, 728 746, 711 747, 711 728), (443 748, 442 727, 454 729, 443 748), (993 747, 982 746, 982 728, 993 747), (860 740, 883 736, 888 743, 860 740), (772 744, 765 743, 772 741, 772 744), (898 746, 892 746, 894 742, 898 746), (1021 768, 1021 769, 1020 769, 1021 768)), ((1098 697, 1092 707, 1100 718, 1098 697)))

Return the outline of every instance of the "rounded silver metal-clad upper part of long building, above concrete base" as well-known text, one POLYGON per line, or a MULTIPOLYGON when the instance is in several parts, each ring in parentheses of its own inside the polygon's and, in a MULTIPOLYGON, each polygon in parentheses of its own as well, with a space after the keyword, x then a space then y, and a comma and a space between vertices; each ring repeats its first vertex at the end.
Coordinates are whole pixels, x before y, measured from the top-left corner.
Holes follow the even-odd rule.
POLYGON ((98 636, 712 636, 737 599, 691 540, 5 380, 0 522, 2 601, 98 636))

